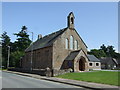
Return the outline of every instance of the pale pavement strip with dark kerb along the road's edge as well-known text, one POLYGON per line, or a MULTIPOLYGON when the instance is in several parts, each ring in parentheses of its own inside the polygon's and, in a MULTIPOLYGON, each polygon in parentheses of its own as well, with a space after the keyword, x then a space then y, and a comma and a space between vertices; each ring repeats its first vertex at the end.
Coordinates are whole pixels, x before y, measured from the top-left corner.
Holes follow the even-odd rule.
POLYGON ((40 76, 40 75, 36 75, 36 74, 28 74, 28 73, 13 72, 13 71, 3 71, 3 72, 14 73, 14 74, 22 75, 22 76, 33 77, 36 79, 42 79, 42 80, 59 82, 59 83, 68 84, 68 85, 79 86, 79 87, 83 87, 86 89, 120 90, 120 87, 114 86, 114 85, 99 84, 99 83, 93 83, 93 82, 84 82, 84 81, 77 81, 77 80, 70 80, 70 79, 63 79, 63 78, 56 78, 56 77, 46 77, 46 76, 40 76))

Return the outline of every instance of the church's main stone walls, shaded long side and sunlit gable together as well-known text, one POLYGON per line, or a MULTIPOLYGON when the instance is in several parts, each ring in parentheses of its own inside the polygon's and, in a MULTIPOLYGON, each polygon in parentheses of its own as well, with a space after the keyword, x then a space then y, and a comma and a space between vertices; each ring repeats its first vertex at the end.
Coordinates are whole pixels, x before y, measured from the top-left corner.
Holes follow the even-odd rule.
MULTIPOLYGON (((75 48, 73 48, 73 50, 70 50, 71 35, 74 37, 73 41, 78 41, 78 50, 82 48, 85 54, 87 54, 87 47, 82 42, 82 39, 79 37, 74 29, 71 30, 68 28, 61 36, 57 38, 57 40, 53 43, 53 46, 33 51, 32 68, 45 69, 49 67, 53 70, 68 69, 69 67, 67 67, 67 64, 64 63, 64 60, 71 51, 75 51, 75 48), (69 42, 68 49, 65 48, 66 38, 69 42)), ((31 52, 26 52, 25 57, 22 61, 22 68, 31 68, 31 52)), ((74 63, 72 68, 74 68, 74 63)))

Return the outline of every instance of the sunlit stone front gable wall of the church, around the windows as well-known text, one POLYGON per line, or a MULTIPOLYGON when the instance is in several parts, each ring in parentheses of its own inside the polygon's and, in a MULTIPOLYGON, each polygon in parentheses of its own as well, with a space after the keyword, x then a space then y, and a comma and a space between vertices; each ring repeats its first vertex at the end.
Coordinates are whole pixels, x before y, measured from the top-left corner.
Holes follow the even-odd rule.
MULTIPOLYGON (((83 44, 82 40, 78 36, 75 30, 67 29, 53 44, 53 68, 54 69, 61 69, 64 67, 62 65, 65 58, 70 54, 71 51, 75 51, 75 49, 70 50, 70 36, 74 37, 74 40, 78 41, 78 50, 81 48, 84 50, 84 52, 87 54, 87 47, 83 44), (69 49, 65 48, 65 40, 68 39, 69 42, 69 49)), ((74 45, 74 44, 73 44, 74 45)))

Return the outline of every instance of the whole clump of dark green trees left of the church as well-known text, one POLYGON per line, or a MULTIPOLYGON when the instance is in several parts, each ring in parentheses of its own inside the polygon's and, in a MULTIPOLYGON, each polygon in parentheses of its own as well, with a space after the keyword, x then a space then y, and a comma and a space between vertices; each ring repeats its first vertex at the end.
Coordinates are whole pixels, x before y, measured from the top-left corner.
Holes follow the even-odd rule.
POLYGON ((22 26, 21 30, 18 33, 14 33, 17 36, 15 42, 10 42, 10 37, 7 35, 7 32, 4 32, 1 35, 2 40, 2 64, 7 67, 8 60, 8 46, 10 46, 10 67, 19 67, 20 59, 24 56, 25 49, 30 45, 31 40, 29 35, 26 32, 27 27, 22 26))

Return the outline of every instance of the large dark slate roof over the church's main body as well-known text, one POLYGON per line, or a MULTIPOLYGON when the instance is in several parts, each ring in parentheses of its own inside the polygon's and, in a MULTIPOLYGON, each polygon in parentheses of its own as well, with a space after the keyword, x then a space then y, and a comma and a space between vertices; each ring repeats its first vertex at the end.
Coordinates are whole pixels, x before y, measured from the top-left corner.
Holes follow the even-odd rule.
MULTIPOLYGON (((46 35, 43 38, 36 40, 33 43, 33 50, 51 46, 53 42, 57 39, 57 37, 59 37, 65 30, 67 30, 67 28, 61 29, 57 32, 46 35)), ((25 50, 25 52, 28 52, 31 50, 32 50, 32 44, 25 50)))

